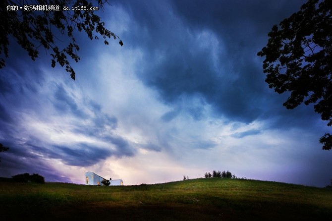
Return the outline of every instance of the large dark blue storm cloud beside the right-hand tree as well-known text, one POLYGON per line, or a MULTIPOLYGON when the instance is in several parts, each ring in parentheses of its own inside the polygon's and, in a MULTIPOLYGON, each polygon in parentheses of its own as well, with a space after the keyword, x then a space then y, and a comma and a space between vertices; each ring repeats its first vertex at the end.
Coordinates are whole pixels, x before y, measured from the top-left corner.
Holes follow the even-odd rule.
MULTIPOLYGON (((249 123, 271 116, 265 97, 269 89, 257 52, 265 46, 272 26, 303 2, 174 0, 158 7, 159 3, 122 3, 142 30, 128 43, 140 47, 149 61, 140 67, 142 81, 157 89, 167 104, 176 106, 183 95, 199 95, 230 120, 249 123), (204 32, 210 35, 199 38, 204 32)), ((271 99, 281 111, 278 98, 271 99)), ((171 119, 177 110, 163 119, 171 119)), ((188 113, 200 118, 199 111, 188 113)))

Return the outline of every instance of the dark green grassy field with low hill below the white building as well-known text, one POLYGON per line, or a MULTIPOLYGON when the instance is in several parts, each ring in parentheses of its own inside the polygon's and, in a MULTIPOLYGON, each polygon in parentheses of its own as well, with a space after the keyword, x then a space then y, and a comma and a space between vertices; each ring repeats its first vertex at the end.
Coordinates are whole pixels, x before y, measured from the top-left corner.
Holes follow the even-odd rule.
POLYGON ((86 186, 0 182, 0 220, 331 220, 332 191, 246 179, 86 186))

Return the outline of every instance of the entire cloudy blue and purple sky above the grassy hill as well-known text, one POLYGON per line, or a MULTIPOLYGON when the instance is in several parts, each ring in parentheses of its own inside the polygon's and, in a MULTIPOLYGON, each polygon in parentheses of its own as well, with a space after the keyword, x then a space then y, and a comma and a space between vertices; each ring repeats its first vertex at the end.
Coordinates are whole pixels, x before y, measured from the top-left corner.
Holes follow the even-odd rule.
POLYGON ((32 61, 10 40, 0 176, 84 184, 93 171, 139 185, 229 170, 329 185, 332 152, 319 138, 331 127, 312 105, 286 110, 288 95, 269 88, 257 56, 272 26, 304 2, 112 0, 96 13, 124 45, 76 33, 75 81, 51 67, 51 52, 32 61))

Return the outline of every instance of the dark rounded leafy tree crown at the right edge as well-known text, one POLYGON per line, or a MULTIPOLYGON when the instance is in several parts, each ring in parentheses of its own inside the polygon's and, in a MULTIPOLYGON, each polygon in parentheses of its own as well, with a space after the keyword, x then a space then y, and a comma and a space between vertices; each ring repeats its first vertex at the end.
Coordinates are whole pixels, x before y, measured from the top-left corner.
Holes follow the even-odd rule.
MULTIPOLYGON (((332 125, 331 13, 331 0, 308 0, 300 11, 273 26, 267 46, 257 54, 265 56, 269 87, 279 94, 290 92, 283 106, 294 109, 312 103, 328 126, 332 125)), ((326 133, 320 143, 323 150, 331 150, 332 135, 326 133)))

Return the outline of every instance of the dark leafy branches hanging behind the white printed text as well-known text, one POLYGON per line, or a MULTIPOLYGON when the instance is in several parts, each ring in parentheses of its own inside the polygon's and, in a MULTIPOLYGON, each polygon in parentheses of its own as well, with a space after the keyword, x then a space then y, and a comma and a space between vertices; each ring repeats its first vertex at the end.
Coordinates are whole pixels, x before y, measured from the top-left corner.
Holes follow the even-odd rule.
MULTIPOLYGON (((74 32, 84 31, 88 37, 98 39, 96 34, 104 38, 104 43, 109 44, 108 38, 119 38, 105 28, 105 23, 94 13, 96 6, 104 9, 108 0, 1 0, 0 1, 0 68, 5 65, 4 57, 8 57, 10 36, 28 52, 32 60, 38 57, 39 50, 45 48, 51 53, 51 66, 58 63, 65 66, 70 77, 75 80, 75 71, 71 67, 67 55, 78 62, 79 46, 76 44, 74 32), (22 8, 20 8, 22 7, 22 8), (68 7, 68 10, 63 10, 68 7), (64 48, 58 39, 67 36, 69 43, 64 48)), ((123 43, 120 40, 119 44, 123 43)))

